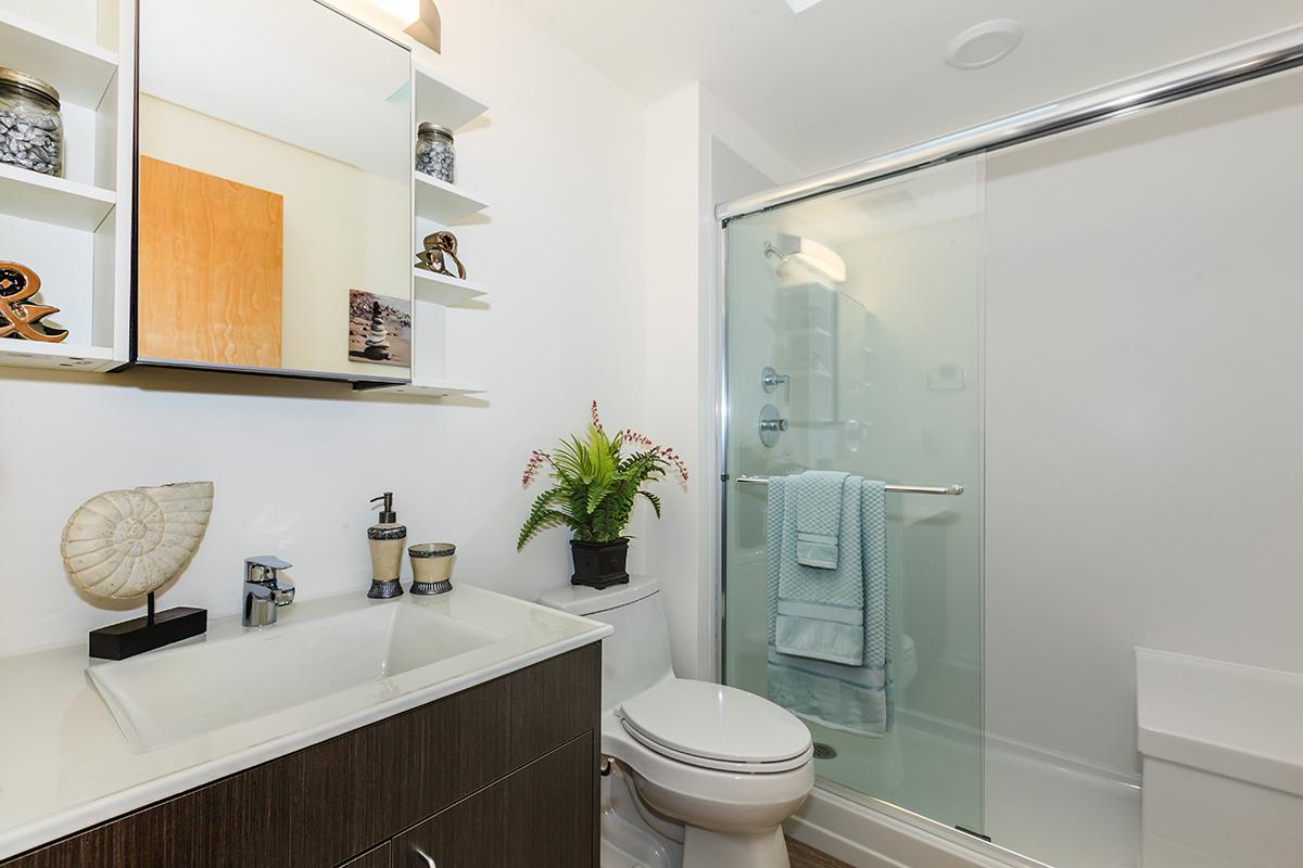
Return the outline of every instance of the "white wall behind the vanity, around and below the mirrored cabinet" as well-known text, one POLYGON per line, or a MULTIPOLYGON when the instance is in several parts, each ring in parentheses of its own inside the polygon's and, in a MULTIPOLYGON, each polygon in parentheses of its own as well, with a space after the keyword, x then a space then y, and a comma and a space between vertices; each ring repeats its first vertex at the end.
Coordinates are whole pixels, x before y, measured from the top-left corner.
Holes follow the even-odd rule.
POLYGON ((593 398, 611 424, 655 429, 640 324, 642 107, 496 3, 439 7, 444 55, 431 62, 491 105, 459 137, 459 174, 494 208, 459 236, 473 277, 495 292, 487 311, 455 311, 448 337, 450 376, 482 383, 485 401, 0 371, 0 656, 85 642, 124 617, 81 600, 59 558, 64 521, 109 488, 216 483, 207 539, 160 599, 214 617, 236 612, 248 554, 293 562, 304 597, 362 593, 366 501, 386 489, 412 541, 459 544, 457 580, 519 596, 568 580, 563 532, 515 553, 536 493, 520 491, 520 472, 532 448, 585 423, 593 398))

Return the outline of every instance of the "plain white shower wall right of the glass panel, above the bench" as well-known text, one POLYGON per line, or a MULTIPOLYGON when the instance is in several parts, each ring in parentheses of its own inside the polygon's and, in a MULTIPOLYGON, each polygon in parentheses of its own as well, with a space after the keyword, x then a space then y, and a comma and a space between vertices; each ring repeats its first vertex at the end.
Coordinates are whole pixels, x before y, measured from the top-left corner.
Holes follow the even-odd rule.
POLYGON ((1134 645, 1303 670, 1300 85, 989 161, 995 734, 1132 770, 1134 645))

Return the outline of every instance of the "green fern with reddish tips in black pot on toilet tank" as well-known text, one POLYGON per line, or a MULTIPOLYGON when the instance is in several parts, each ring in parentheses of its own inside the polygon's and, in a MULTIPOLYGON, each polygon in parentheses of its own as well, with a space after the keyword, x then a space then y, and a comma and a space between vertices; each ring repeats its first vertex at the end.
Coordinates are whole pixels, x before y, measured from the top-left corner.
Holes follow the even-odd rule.
POLYGON ((646 498, 661 518, 661 498, 644 485, 665 479, 671 468, 687 484, 688 468, 674 449, 658 446, 631 428, 614 437, 607 435, 597 414, 597 401, 592 415, 584 439, 569 436, 552 452, 530 453, 523 485, 528 488, 545 466, 552 484, 534 498, 516 550, 545 528, 568 527, 575 557, 571 582, 607 588, 629 580, 625 569, 629 540, 624 528, 637 498, 646 498))

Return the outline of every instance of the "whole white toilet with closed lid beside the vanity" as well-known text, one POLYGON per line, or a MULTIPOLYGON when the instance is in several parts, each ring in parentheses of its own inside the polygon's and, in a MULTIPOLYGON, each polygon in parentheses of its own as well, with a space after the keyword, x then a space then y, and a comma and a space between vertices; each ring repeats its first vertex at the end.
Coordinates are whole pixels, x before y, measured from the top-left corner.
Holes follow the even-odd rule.
POLYGON ((611 794, 607 778, 603 852, 627 852, 605 839, 637 828, 658 841, 625 864, 671 868, 681 852, 683 868, 788 868, 782 822, 814 786, 809 730, 753 694, 676 678, 659 590, 633 579, 538 600, 615 627, 602 644, 602 753, 637 795, 611 794))

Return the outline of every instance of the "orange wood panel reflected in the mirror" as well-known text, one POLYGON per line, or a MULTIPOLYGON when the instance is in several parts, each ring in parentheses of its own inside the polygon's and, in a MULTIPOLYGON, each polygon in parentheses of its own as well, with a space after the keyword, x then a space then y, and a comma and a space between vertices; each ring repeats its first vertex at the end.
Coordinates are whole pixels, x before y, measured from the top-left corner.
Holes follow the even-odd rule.
POLYGON ((141 157, 141 358, 280 367, 284 198, 141 157))

